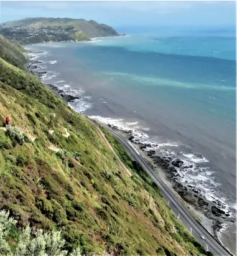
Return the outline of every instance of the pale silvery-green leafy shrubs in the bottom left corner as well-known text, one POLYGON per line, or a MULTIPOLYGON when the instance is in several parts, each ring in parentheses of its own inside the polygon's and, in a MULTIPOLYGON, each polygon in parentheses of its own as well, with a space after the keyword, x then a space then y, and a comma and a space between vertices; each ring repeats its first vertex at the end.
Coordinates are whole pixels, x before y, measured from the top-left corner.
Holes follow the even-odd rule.
POLYGON ((81 256, 80 247, 68 253, 60 231, 44 233, 42 229, 32 232, 29 224, 17 229, 17 220, 9 212, 0 211, 0 254, 5 256, 81 256), (11 239, 14 237, 14 240, 11 239))

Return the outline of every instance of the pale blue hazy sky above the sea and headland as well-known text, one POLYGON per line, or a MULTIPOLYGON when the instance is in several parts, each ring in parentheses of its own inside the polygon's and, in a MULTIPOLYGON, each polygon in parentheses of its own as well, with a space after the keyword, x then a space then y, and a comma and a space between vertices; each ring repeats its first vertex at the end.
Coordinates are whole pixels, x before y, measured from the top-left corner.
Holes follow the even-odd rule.
POLYGON ((235 26, 235 1, 1 1, 0 22, 25 17, 93 19, 119 27, 235 26))

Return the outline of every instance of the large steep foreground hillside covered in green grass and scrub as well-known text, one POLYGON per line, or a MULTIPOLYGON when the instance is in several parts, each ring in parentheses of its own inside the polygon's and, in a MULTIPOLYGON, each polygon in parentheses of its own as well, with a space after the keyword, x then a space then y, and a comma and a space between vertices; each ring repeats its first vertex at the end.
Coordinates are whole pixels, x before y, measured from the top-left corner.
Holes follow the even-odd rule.
POLYGON ((207 255, 119 141, 103 130, 132 178, 85 116, 3 59, 0 110, 0 123, 9 115, 17 134, 30 138, 16 143, 0 129, 0 209, 18 220, 8 244, 17 248, 29 225, 60 231, 68 253, 80 247, 85 255, 207 255))

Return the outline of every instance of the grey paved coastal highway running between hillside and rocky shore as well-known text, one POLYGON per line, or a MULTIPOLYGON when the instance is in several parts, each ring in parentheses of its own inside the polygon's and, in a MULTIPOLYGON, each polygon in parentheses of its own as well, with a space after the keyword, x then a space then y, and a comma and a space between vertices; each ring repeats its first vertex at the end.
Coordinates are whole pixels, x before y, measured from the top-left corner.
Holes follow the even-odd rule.
POLYGON ((192 235, 200 242, 200 244, 205 247, 206 250, 210 251, 216 256, 229 256, 232 255, 226 250, 216 239, 206 230, 203 226, 192 216, 188 209, 182 204, 182 202, 175 196, 164 181, 159 178, 159 176, 154 172, 154 170, 146 163, 141 154, 137 149, 132 145, 132 143, 126 140, 123 136, 116 133, 116 131, 111 128, 105 127, 109 130, 124 146, 128 151, 132 159, 141 164, 141 166, 147 171, 149 176, 157 184, 162 193, 164 199, 168 202, 170 208, 174 212, 175 216, 187 227, 187 229, 192 233, 192 235), (200 235, 203 235, 205 239, 202 239, 200 235))

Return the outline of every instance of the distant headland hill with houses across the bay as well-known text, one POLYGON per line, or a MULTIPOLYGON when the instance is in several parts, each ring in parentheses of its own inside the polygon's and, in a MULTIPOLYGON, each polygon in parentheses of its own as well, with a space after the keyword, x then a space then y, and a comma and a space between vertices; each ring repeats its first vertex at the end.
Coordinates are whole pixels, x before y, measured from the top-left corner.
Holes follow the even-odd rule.
POLYGON ((0 24, 0 34, 19 40, 24 44, 119 36, 113 27, 93 20, 44 17, 2 23, 0 24))

